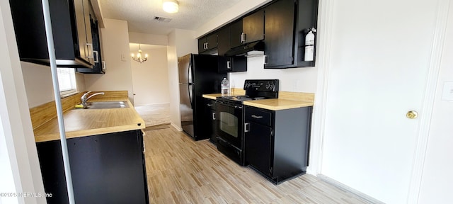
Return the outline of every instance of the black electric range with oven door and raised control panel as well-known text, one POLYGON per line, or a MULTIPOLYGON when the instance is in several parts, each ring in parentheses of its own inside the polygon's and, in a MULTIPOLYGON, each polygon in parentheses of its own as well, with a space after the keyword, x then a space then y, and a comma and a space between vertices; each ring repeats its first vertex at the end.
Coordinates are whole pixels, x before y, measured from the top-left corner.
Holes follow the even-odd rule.
POLYGON ((247 79, 244 96, 220 96, 216 98, 217 149, 244 165, 243 155, 243 101, 278 98, 278 79, 247 79))

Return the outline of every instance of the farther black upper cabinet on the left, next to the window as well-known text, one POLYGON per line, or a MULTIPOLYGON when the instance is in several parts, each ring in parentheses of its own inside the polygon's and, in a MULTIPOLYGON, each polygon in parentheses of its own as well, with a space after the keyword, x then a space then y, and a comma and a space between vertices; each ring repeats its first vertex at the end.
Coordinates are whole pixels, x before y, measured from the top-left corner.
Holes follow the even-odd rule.
POLYGON ((105 67, 103 66, 104 63, 102 61, 101 55, 101 36, 99 35, 99 26, 98 20, 94 15, 93 10, 90 13, 90 21, 91 21, 91 36, 93 38, 93 62, 94 66, 93 69, 90 68, 77 68, 76 71, 79 73, 84 74, 105 74, 105 67))

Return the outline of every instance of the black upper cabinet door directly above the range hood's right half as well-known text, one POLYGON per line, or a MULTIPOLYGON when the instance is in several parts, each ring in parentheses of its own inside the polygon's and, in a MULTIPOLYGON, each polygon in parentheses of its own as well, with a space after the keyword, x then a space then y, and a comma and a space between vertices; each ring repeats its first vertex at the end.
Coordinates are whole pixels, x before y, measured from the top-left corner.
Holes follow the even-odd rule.
POLYGON ((264 39, 264 10, 258 10, 242 18, 242 43, 264 39))

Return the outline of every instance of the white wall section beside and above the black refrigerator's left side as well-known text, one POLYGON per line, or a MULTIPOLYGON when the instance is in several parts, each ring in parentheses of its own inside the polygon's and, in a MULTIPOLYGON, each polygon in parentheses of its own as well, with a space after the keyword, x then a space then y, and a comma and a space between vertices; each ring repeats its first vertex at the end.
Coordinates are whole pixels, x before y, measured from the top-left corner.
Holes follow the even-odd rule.
POLYGON ((198 53, 195 31, 175 29, 168 35, 168 89, 170 91, 171 124, 182 130, 179 111, 178 57, 198 53))

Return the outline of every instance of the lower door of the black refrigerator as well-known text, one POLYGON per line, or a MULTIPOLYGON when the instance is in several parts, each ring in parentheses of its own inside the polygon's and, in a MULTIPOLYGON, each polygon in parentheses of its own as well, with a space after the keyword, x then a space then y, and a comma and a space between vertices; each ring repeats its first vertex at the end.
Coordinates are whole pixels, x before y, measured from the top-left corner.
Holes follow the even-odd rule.
POLYGON ((179 84, 181 128, 191 137, 195 137, 193 130, 193 86, 179 84))

